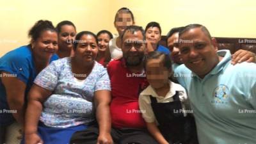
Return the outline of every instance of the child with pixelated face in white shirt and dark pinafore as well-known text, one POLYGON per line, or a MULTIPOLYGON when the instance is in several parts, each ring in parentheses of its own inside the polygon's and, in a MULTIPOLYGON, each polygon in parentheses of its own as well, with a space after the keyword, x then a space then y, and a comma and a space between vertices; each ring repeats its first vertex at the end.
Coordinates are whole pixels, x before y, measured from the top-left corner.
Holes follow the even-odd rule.
POLYGON ((189 116, 186 90, 168 78, 172 72, 170 57, 162 52, 149 52, 145 60, 150 84, 140 93, 140 109, 148 131, 161 144, 197 143, 193 141, 195 122, 189 116), (192 131, 194 130, 194 131, 192 131))

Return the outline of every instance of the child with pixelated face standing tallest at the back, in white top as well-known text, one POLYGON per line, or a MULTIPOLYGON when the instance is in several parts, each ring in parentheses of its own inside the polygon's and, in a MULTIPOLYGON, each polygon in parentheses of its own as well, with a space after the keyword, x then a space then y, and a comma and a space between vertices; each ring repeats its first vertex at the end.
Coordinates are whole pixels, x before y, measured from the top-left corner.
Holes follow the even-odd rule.
POLYGON ((122 58, 121 35, 127 26, 132 26, 134 23, 134 16, 129 8, 120 8, 116 12, 114 24, 118 36, 109 41, 109 49, 106 49, 106 63, 111 59, 122 58))

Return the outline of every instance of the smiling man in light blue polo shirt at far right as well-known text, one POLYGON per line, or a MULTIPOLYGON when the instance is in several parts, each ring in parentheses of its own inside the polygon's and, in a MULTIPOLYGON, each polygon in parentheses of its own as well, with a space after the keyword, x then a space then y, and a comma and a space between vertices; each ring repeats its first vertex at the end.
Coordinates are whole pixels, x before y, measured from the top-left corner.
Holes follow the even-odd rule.
POLYGON ((179 38, 184 65, 175 67, 174 76, 189 93, 199 142, 255 144, 256 64, 232 65, 230 51, 217 52, 216 40, 200 24, 186 26, 179 38))

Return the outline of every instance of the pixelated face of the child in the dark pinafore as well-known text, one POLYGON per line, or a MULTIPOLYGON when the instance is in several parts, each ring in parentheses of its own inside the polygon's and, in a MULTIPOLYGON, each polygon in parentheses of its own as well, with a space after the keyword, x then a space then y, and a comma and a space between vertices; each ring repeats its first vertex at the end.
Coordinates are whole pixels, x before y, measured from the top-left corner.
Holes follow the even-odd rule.
POLYGON ((152 88, 162 88, 168 83, 169 73, 168 68, 164 67, 161 59, 152 59, 147 61, 146 74, 148 83, 152 88))

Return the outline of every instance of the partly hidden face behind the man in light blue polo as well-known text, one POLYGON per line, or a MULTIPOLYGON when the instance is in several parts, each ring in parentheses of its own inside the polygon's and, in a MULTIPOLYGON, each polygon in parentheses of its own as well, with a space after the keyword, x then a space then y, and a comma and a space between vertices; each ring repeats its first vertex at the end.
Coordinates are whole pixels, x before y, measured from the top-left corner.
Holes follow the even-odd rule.
POLYGON ((168 38, 167 45, 171 51, 171 58, 173 62, 182 63, 179 54, 179 33, 173 33, 173 35, 168 38))

